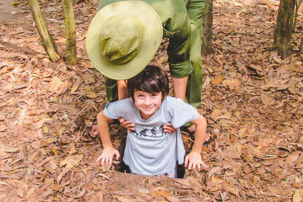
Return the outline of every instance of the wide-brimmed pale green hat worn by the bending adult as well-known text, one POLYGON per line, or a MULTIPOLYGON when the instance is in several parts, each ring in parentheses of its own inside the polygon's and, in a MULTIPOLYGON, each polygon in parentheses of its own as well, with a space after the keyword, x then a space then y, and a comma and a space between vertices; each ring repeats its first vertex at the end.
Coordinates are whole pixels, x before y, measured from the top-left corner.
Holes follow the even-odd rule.
POLYGON ((140 1, 116 2, 103 7, 92 19, 86 50, 103 75, 125 80, 148 65, 162 36, 161 20, 151 6, 140 1))

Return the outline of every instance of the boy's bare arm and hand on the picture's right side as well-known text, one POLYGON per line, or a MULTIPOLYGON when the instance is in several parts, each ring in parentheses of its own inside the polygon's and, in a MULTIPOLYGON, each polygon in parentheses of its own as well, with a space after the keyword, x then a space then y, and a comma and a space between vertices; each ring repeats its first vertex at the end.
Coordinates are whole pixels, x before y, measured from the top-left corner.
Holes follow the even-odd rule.
POLYGON ((200 164, 207 168, 205 163, 201 160, 201 151, 204 143, 204 136, 206 132, 206 119, 199 114, 198 118, 191 121, 195 124, 195 142, 191 152, 185 157, 185 167, 188 165, 188 169, 194 169, 196 166, 200 168, 200 164))

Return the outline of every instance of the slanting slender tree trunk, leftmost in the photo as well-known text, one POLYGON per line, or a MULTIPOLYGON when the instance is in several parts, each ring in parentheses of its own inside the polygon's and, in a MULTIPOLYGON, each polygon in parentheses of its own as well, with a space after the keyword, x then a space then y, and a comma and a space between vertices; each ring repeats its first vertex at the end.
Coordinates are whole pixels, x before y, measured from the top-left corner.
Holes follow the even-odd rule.
POLYGON ((32 12, 33 20, 35 21, 36 28, 38 29, 42 46, 46 51, 47 55, 50 57, 52 62, 58 60, 58 49, 56 43, 46 27, 45 21, 42 17, 42 13, 37 0, 28 0, 29 8, 32 12))

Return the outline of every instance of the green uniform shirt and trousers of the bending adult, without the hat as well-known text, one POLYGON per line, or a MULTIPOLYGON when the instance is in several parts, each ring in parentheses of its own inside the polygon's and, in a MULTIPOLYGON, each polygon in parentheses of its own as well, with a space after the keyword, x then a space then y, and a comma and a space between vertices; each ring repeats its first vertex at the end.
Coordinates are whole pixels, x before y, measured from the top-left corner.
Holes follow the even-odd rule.
MULTIPOLYGON (((113 2, 101 1, 98 10, 113 2)), ((201 65, 202 15, 205 0, 143 0, 159 15, 163 37, 169 38, 168 63, 171 75, 184 78, 188 75, 185 102, 194 107, 201 103, 203 69, 201 65)), ((139 72, 138 72, 139 73, 139 72)), ((118 100, 117 82, 105 78, 109 102, 118 100)))

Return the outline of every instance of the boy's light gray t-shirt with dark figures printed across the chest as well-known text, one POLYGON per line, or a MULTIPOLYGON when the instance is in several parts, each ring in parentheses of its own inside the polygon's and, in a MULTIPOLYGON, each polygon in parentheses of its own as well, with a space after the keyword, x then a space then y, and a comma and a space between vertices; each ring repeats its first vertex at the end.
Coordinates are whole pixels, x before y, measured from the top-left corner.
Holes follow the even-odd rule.
POLYGON ((185 149, 179 127, 198 118, 196 108, 168 96, 146 121, 130 98, 106 104, 104 114, 110 119, 123 117, 135 124, 135 131, 127 134, 123 161, 133 173, 142 175, 165 174, 175 168, 176 161, 184 163, 185 149), (177 128, 173 134, 163 131, 168 122, 177 128))

